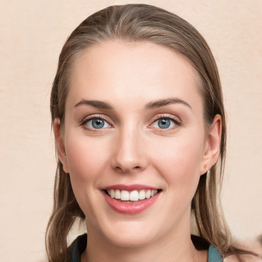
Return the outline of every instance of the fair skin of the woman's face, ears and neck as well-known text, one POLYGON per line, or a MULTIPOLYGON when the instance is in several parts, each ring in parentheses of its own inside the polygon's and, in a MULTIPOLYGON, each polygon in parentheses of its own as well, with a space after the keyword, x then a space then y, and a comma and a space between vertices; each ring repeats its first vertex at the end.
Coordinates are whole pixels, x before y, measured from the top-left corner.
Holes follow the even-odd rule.
POLYGON ((204 125, 197 78, 185 57, 147 42, 103 42, 76 61, 64 132, 59 119, 54 131, 58 156, 86 215, 88 248, 82 262, 207 261, 207 251, 195 250, 190 240, 190 202, 205 167, 219 156, 221 117, 204 125), (148 108, 169 98, 187 104, 148 108), (84 99, 112 108, 79 105, 84 99), (105 127, 83 123, 92 117, 104 119, 105 127), (161 129, 161 118, 175 121, 161 129), (122 214, 101 193, 115 184, 162 191, 142 213, 122 214))

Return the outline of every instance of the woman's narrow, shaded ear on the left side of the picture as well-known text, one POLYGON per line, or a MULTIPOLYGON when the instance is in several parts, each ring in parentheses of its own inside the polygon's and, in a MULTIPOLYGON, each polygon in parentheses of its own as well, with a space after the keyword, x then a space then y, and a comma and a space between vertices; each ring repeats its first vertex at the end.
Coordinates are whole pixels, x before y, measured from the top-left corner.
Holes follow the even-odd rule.
POLYGON ((60 119, 55 118, 54 121, 54 135, 57 155, 63 164, 63 170, 65 173, 69 173, 67 154, 65 153, 64 142, 61 134, 60 119))

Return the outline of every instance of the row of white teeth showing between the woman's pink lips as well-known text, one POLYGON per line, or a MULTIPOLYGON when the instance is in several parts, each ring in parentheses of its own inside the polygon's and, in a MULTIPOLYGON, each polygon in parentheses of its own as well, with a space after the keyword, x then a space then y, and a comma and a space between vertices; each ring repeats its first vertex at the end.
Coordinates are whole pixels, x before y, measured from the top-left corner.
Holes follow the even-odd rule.
POLYGON ((119 189, 107 189, 106 192, 114 199, 121 199, 122 201, 138 201, 149 199, 157 194, 158 190, 134 190, 126 191, 119 189))

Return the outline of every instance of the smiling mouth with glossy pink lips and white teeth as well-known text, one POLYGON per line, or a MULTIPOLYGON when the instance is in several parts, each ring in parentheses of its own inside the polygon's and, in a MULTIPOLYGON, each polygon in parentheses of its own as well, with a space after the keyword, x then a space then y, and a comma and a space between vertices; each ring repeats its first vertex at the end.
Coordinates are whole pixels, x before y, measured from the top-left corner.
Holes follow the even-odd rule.
POLYGON ((143 185, 114 185, 102 190, 107 204, 124 214, 137 214, 152 206, 162 190, 143 185))

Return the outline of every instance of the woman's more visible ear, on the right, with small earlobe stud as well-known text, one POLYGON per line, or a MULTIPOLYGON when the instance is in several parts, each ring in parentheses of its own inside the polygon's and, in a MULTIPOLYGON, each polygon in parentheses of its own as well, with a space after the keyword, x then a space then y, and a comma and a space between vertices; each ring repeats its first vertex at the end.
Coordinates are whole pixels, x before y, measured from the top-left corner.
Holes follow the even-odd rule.
POLYGON ((221 134, 222 118, 221 115, 215 115, 214 120, 208 130, 200 174, 206 173, 219 158, 221 134))

